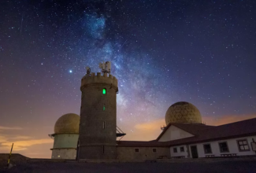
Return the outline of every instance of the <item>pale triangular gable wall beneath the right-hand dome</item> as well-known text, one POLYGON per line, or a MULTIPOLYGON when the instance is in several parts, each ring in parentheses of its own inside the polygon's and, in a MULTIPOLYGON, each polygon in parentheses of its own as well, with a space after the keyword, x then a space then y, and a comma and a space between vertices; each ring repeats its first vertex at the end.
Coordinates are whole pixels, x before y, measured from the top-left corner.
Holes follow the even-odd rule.
POLYGON ((187 131, 184 131, 178 127, 170 126, 167 131, 165 131, 165 134, 159 138, 158 142, 167 142, 167 141, 173 141, 180 138, 188 138, 194 136, 193 134, 188 133, 187 131))

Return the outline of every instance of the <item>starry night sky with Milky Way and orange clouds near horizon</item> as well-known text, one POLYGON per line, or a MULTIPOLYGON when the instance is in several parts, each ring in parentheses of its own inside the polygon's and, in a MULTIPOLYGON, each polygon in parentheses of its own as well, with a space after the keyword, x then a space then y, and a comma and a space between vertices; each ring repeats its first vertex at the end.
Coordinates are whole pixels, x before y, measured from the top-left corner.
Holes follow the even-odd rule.
POLYGON ((0 153, 50 158, 54 123, 80 115, 80 79, 111 61, 124 140, 153 140, 177 101, 206 124, 256 117, 254 1, 0 2, 0 153))

